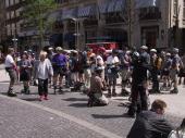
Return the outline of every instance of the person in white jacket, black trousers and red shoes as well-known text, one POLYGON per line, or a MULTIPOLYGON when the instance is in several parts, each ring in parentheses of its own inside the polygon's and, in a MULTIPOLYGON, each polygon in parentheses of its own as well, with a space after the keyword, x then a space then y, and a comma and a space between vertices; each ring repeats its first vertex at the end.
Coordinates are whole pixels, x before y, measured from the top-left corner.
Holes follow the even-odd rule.
POLYGON ((48 78, 53 76, 51 62, 47 59, 47 52, 40 52, 40 61, 37 68, 39 100, 48 100, 48 78))

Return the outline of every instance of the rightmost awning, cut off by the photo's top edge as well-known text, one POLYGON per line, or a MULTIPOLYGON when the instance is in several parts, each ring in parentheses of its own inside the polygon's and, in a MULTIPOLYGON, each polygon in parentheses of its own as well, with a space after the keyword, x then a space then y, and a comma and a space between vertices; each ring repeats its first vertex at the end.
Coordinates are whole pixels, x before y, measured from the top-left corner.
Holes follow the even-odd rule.
POLYGON ((159 0, 135 0, 135 1, 137 9, 159 5, 159 0))

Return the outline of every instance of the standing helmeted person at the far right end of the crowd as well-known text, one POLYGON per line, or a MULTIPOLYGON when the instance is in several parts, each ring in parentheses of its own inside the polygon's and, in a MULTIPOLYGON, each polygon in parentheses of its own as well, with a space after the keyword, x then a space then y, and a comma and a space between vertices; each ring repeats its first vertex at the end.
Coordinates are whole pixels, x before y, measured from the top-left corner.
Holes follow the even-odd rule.
POLYGON ((170 71, 170 77, 172 79, 172 81, 174 83, 174 89, 172 89, 170 92, 171 93, 177 93, 178 89, 177 89, 177 73, 180 71, 180 66, 182 64, 182 60, 178 55, 178 49, 174 48, 172 51, 172 68, 170 71))

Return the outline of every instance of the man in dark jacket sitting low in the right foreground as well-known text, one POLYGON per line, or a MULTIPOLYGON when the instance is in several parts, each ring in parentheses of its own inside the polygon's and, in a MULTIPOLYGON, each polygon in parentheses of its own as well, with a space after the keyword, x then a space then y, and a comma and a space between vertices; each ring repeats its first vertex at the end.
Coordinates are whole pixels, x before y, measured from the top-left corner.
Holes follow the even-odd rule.
POLYGON ((164 101, 153 101, 150 111, 137 115, 127 138, 168 138, 173 127, 163 116, 165 108, 164 101))

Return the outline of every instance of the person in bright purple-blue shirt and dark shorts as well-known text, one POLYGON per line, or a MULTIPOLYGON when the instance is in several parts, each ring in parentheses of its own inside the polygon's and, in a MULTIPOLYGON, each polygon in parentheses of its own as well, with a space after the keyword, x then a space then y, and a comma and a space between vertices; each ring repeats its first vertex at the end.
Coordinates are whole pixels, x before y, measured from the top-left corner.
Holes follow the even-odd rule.
POLYGON ((55 48, 55 54, 52 58, 52 66, 53 66, 53 86, 54 86, 54 93, 57 92, 57 83, 59 78, 59 91, 62 91, 62 79, 67 70, 67 59, 64 54, 62 54, 62 48, 55 48))

